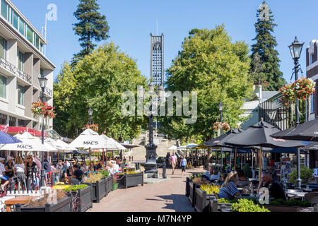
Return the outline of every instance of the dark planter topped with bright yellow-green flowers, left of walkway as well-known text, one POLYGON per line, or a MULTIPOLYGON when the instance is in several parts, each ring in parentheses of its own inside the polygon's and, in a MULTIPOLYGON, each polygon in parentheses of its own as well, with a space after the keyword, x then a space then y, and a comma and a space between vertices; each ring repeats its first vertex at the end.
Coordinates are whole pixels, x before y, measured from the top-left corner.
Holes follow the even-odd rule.
POLYGON ((85 212, 89 208, 93 207, 93 189, 88 184, 80 184, 70 186, 64 191, 68 196, 72 196, 72 208, 73 212, 85 212))

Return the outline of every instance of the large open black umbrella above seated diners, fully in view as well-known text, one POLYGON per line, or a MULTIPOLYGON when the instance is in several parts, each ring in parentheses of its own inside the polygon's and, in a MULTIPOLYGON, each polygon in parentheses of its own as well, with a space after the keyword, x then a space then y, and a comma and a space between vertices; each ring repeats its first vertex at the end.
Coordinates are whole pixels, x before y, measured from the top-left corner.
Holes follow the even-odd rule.
MULTIPOLYGON (((237 134, 233 138, 230 138, 225 144, 227 145, 236 145, 238 147, 246 146, 260 146, 261 148, 290 148, 290 147, 301 147, 304 146, 300 141, 285 141, 283 139, 276 139, 271 137, 271 134, 277 133, 279 130, 272 126, 271 124, 266 123, 265 121, 259 121, 253 126, 242 133, 237 134)), ((260 157, 262 150, 260 148, 260 157)), ((261 169, 261 160, 260 166, 261 169)), ((261 170, 259 170, 259 179, 261 179, 261 170)))

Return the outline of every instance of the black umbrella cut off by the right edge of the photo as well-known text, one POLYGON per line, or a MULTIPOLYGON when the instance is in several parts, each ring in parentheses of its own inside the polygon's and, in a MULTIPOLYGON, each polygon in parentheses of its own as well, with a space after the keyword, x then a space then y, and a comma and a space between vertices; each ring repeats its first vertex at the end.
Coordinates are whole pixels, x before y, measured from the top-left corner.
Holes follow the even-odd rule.
POLYGON ((297 127, 273 133, 271 136, 293 141, 318 141, 318 118, 299 124, 297 127))

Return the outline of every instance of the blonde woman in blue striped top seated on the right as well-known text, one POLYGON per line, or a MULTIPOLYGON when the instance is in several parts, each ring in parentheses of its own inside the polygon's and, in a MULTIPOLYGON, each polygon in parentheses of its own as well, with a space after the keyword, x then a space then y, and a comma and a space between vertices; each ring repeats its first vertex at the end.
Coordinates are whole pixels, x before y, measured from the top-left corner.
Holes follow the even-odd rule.
POLYGON ((240 197, 240 191, 237 189, 238 175, 235 172, 230 172, 226 177, 225 182, 221 185, 218 191, 219 198, 235 199, 240 197))

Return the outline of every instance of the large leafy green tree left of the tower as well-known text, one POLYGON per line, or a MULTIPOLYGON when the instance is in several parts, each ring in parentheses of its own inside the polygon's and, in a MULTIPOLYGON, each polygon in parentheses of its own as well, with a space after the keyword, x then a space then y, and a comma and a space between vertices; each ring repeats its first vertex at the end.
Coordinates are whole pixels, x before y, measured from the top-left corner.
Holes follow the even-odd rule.
POLYGON ((107 136, 124 139, 135 138, 145 126, 145 117, 124 117, 121 112, 124 101, 122 93, 132 91, 136 95, 137 85, 146 87, 146 78, 141 76, 136 61, 131 59, 114 43, 105 44, 71 70, 69 64, 57 77, 54 85, 54 103, 62 113, 54 121, 57 131, 74 138, 88 123, 88 108, 93 112, 93 123, 107 136), (65 125, 62 125, 62 123, 65 125))

